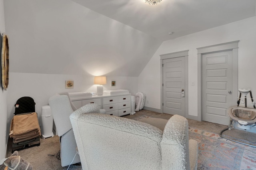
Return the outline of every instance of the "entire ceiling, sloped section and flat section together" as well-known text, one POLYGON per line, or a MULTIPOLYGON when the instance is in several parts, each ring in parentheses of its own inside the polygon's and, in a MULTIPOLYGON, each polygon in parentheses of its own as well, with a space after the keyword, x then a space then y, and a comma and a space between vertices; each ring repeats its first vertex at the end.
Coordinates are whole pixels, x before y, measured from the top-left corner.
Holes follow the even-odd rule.
POLYGON ((138 76, 162 41, 255 16, 255 7, 256 0, 4 0, 10 72, 138 76))

